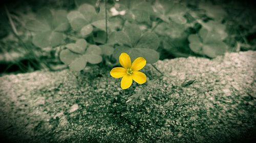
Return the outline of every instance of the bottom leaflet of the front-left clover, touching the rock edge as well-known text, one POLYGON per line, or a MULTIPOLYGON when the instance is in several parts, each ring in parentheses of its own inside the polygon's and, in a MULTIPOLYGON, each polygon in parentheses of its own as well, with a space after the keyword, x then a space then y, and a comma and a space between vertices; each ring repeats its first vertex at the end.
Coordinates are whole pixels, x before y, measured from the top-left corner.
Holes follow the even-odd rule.
POLYGON ((81 71, 86 68, 87 65, 87 57, 86 55, 80 55, 74 61, 72 61, 69 65, 70 70, 72 71, 81 71))

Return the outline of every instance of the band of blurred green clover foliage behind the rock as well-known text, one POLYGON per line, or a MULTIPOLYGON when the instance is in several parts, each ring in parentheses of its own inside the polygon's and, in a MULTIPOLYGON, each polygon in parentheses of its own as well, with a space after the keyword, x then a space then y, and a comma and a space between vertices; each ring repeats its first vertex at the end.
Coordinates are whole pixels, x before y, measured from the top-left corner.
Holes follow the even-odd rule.
POLYGON ((143 56, 147 63, 155 63, 180 56, 215 58, 225 52, 256 49, 256 12, 246 2, 27 0, 6 8, 10 16, 3 7, 1 54, 5 57, 26 49, 31 61, 44 63, 39 67, 49 68, 49 60, 57 65, 61 61, 73 71, 99 63, 112 67, 121 52, 129 53, 132 60, 143 56))

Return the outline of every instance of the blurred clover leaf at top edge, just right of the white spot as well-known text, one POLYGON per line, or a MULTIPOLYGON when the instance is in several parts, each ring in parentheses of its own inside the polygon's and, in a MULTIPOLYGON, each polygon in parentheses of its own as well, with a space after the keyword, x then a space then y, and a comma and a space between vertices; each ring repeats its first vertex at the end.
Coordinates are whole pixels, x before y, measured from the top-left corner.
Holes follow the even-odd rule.
POLYGON ((154 14, 150 3, 145 1, 118 1, 115 5, 119 11, 124 10, 124 18, 128 21, 151 24, 150 16, 154 14))

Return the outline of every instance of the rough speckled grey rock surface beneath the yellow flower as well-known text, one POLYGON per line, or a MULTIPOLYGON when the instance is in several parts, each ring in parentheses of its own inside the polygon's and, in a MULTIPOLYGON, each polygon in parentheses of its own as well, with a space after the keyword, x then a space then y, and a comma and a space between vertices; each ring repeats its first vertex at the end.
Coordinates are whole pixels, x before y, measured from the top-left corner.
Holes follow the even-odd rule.
POLYGON ((249 141, 256 133, 255 57, 247 51, 159 61, 172 82, 148 65, 153 84, 133 83, 125 91, 104 68, 2 76, 1 136, 13 142, 249 141), (197 80, 180 87, 190 79, 197 80), (139 98, 125 103, 135 93, 139 98))

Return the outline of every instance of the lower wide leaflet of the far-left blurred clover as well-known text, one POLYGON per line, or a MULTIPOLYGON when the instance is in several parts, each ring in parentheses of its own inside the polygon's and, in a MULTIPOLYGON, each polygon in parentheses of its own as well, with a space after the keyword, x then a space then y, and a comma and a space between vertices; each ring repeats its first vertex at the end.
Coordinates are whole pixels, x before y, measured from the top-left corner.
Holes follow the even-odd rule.
POLYGON ((57 46, 62 43, 64 37, 62 33, 47 31, 36 34, 32 42, 38 47, 57 46))

